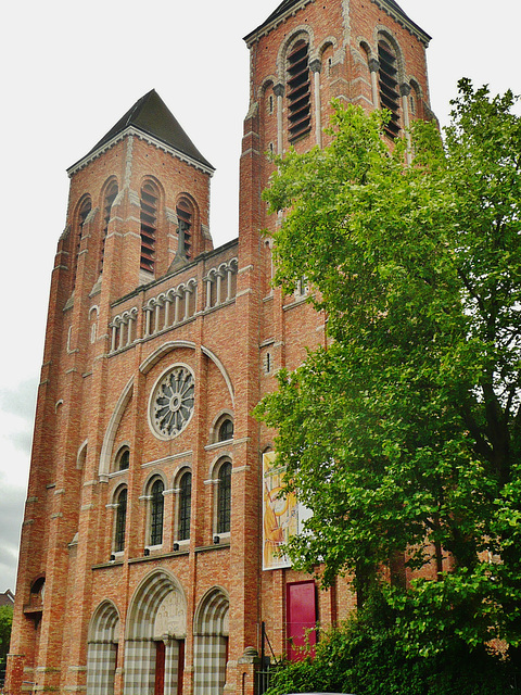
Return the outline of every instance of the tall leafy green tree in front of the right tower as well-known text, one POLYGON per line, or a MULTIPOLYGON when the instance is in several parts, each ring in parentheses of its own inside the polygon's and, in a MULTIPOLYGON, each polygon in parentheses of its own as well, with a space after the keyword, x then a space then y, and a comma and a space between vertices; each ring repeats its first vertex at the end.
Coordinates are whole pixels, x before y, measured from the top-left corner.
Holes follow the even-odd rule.
POLYGON ((442 139, 336 108, 331 144, 277 160, 275 281, 305 276, 330 345, 258 417, 278 429, 287 489, 312 509, 289 543, 325 585, 379 568, 437 570, 381 586, 406 649, 521 644, 521 118, 511 92, 459 84, 442 139), (452 570, 444 571, 444 558, 452 570))

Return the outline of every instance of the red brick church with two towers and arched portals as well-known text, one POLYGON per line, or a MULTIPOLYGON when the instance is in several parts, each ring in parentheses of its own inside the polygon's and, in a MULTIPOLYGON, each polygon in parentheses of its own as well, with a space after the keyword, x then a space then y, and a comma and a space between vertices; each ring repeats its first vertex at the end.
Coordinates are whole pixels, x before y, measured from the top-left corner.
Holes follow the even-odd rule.
MULTIPOLYGON (((275 3, 276 0, 274 0, 275 3)), ((68 169, 52 271, 7 690, 254 695, 356 598, 278 547, 275 432, 252 410, 323 316, 274 289, 266 153, 323 146, 331 99, 431 117, 430 37, 394 0, 283 0, 245 37, 238 237, 214 249, 212 165, 155 91, 68 169)))

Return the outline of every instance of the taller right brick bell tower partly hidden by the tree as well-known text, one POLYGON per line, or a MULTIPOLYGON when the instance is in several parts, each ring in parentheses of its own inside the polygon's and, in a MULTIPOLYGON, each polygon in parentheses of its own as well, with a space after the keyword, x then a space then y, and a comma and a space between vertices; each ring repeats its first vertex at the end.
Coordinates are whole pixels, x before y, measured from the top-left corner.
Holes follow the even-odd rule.
MULTIPOLYGON (((277 388, 276 374, 294 369, 306 348, 325 345, 325 316, 306 303, 305 278, 291 295, 270 285, 271 241, 280 215, 268 215, 262 191, 275 172, 270 155, 290 148, 306 152, 328 143, 325 128, 332 100, 384 108, 391 113, 384 137, 407 135, 415 118, 433 117, 429 105, 425 49, 430 37, 394 0, 284 0, 245 37, 250 50, 250 108, 244 119, 240 178, 239 291, 244 321, 238 336, 244 359, 239 369, 258 374, 251 383, 244 413, 277 388), (257 344, 258 353, 247 351, 257 344)), ((245 420, 242 420, 245 421, 245 420)), ((255 424, 242 432, 269 469, 276 432, 255 424)), ((253 451, 255 450, 255 451, 253 451)), ((335 623, 353 609, 353 596, 339 581, 330 592, 317 592, 313 580, 296 572, 274 551, 284 533, 295 532, 301 514, 297 503, 284 516, 271 502, 277 482, 269 471, 263 478, 263 547, 258 622, 276 653, 297 658, 294 646, 314 626, 335 623), (288 531, 293 526, 292 531, 288 531)), ((246 604, 246 610, 251 609, 246 604)), ((313 643, 313 642, 312 642, 313 643)))

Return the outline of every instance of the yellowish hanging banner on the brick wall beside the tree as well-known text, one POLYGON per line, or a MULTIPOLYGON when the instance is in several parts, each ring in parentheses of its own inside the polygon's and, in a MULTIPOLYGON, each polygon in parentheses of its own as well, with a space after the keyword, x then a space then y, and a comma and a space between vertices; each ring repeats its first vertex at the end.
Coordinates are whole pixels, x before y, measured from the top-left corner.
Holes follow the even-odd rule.
POLYGON ((263 454, 263 569, 291 567, 281 547, 298 532, 294 494, 281 496, 285 468, 274 467, 275 452, 263 454))

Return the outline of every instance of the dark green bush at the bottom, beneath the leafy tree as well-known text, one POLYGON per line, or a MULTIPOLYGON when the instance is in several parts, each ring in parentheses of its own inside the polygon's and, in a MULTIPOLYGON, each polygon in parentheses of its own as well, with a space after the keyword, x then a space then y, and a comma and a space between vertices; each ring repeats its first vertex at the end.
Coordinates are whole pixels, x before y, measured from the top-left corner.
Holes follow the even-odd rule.
POLYGON ((469 650, 455 640, 435 656, 411 656, 383 597, 336 630, 322 634, 316 656, 285 664, 267 695, 298 692, 356 695, 512 695, 508 661, 484 646, 469 650))

